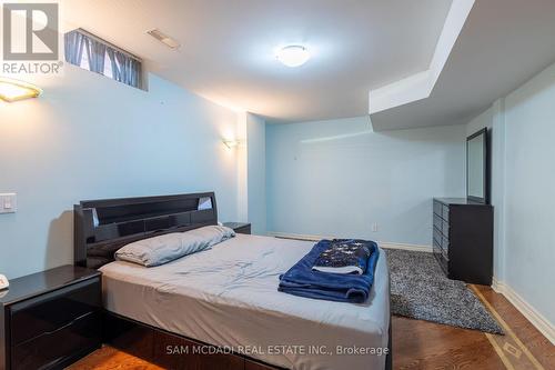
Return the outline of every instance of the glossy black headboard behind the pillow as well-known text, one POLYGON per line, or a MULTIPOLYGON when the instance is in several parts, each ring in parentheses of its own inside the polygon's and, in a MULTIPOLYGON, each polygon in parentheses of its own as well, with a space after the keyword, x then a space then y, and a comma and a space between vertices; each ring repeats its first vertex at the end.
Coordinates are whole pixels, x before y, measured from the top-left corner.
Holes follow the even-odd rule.
POLYGON ((73 210, 74 263, 93 269, 130 242, 218 224, 213 192, 83 200, 73 210))

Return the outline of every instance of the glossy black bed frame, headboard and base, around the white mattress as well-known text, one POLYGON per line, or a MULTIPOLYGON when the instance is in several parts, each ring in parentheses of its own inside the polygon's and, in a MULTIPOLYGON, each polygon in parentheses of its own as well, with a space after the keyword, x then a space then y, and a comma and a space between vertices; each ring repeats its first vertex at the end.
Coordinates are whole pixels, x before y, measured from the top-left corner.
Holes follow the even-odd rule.
MULTIPOLYGON (((75 204, 74 263, 98 269, 130 242, 218 224, 213 192, 85 200, 75 204)), ((103 313, 103 342, 168 369, 281 369, 113 312, 103 313), (201 352, 199 352, 201 351, 201 352)), ((390 342, 386 369, 392 369, 390 342)))

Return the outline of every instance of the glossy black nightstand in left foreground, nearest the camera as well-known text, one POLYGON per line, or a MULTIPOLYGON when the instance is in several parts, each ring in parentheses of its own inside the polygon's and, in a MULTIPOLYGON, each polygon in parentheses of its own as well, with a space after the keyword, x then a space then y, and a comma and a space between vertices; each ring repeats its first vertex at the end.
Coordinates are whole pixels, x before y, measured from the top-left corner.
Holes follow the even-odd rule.
POLYGON ((101 346, 101 274, 73 266, 0 292, 0 370, 61 369, 101 346))

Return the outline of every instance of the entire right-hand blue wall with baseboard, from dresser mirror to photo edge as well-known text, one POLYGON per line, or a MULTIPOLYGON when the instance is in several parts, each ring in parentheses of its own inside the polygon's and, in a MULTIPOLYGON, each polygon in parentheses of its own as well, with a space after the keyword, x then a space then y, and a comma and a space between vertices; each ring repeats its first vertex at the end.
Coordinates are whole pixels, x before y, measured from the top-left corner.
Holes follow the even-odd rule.
POLYGON ((492 129, 495 289, 555 343, 555 64, 467 124, 492 129))

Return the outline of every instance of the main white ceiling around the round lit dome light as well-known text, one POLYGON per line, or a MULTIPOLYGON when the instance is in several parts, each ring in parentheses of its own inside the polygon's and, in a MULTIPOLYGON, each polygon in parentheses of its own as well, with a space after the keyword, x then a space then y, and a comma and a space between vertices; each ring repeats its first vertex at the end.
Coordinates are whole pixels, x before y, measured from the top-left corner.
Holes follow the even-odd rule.
MULTIPOLYGON (((524 1, 526 2, 526 1, 524 1)), ((296 122, 365 116, 369 90, 428 68, 451 0, 62 0, 62 19, 223 106, 296 122), (182 44, 172 51, 147 30, 182 44), (290 69, 287 43, 312 59, 290 69)))

